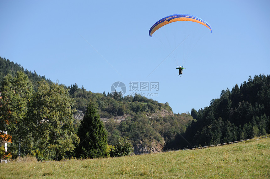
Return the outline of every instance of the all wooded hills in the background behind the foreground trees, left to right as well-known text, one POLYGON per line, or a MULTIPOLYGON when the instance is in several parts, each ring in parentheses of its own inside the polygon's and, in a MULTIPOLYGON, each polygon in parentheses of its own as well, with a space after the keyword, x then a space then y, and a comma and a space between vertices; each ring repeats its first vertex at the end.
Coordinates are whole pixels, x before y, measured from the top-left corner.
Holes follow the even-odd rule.
MULTIPOLYGON (((33 83, 45 76, 32 73, 20 64, 0 57, 0 79, 7 73, 23 71, 33 83)), ((1 80, 2 80, 1 79, 1 80)), ((62 85, 75 102, 74 130, 80 125, 86 106, 92 101, 108 132, 107 142, 114 145, 120 137, 128 137, 135 154, 155 153, 166 150, 208 146, 225 142, 250 139, 270 132, 270 75, 259 74, 229 90, 221 90, 218 99, 210 106, 191 114, 173 114, 168 103, 135 94, 92 93, 75 83, 62 85)), ((16 147, 16 146, 15 146, 16 147)), ((26 146, 25 146, 26 147, 26 146)), ((25 155, 27 154, 27 151, 25 155)), ((73 157, 72 153, 67 154, 73 157)))

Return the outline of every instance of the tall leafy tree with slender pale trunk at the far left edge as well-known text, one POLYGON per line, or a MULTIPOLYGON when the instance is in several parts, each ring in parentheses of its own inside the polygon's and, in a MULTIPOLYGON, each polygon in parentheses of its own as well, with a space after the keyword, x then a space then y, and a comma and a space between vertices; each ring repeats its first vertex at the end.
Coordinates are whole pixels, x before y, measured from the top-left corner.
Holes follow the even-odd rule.
POLYGON ((32 122, 28 116, 33 85, 28 77, 18 71, 15 77, 6 75, 2 81, 0 98, 0 130, 7 131, 18 143, 21 156, 21 141, 29 135, 32 122))

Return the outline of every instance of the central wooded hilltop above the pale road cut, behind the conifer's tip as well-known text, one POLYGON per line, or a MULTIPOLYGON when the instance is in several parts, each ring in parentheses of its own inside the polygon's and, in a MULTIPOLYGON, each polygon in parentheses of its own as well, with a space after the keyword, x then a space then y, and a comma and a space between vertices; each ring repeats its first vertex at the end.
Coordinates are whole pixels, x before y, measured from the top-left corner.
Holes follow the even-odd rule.
POLYGON ((91 100, 97 107, 100 117, 112 118, 113 116, 136 115, 138 113, 154 114, 162 110, 171 112, 172 109, 168 103, 159 103, 153 99, 138 94, 123 96, 121 92, 92 93, 86 91, 84 87, 78 88, 75 83, 67 87, 73 99, 75 99, 74 108, 85 111, 86 106, 91 100))

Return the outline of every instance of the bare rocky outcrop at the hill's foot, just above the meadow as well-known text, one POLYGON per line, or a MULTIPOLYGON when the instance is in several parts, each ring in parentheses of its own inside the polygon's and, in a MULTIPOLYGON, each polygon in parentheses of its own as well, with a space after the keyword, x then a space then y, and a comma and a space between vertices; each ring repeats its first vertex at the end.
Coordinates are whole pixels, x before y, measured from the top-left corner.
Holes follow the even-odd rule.
POLYGON ((162 152, 163 146, 165 143, 161 144, 158 141, 154 140, 152 141, 151 145, 144 144, 144 141, 140 141, 135 147, 134 147, 134 153, 136 155, 140 154, 151 154, 151 153, 158 153, 162 152))

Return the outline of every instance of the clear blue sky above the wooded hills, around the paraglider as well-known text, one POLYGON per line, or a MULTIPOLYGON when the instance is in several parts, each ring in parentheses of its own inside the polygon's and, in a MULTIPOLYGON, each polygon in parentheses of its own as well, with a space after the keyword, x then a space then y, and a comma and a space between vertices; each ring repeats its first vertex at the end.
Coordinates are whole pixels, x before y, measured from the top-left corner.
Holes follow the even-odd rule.
POLYGON ((250 75, 269 74, 269 9, 269 0, 0 1, 0 56, 94 93, 121 81, 125 95, 150 95, 174 113, 190 112, 250 75), (149 36, 155 22, 178 13, 204 19, 213 33, 175 22, 149 36), (154 82, 158 91, 150 90, 154 82))

